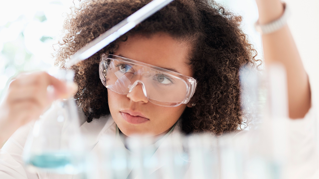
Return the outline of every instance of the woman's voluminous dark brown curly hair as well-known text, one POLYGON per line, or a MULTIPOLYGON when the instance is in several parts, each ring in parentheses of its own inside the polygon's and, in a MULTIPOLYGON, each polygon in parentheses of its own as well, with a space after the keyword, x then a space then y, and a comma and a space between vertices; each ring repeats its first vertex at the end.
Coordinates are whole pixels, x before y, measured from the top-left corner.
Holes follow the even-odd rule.
MULTIPOLYGON (((55 65, 63 67, 66 59, 81 47, 149 2, 90 0, 72 8, 64 22, 66 33, 56 50, 55 65)), ((191 99, 196 105, 186 107, 183 112, 182 131, 223 134, 237 130, 245 117, 240 105, 239 69, 258 61, 256 50, 239 27, 240 22, 240 16, 213 0, 175 0, 92 57, 74 65, 74 81, 78 85, 75 99, 87 122, 110 114, 107 88, 99 78, 101 54, 114 52, 119 42, 131 35, 165 32, 193 46, 189 64, 197 80, 197 90, 191 99)))

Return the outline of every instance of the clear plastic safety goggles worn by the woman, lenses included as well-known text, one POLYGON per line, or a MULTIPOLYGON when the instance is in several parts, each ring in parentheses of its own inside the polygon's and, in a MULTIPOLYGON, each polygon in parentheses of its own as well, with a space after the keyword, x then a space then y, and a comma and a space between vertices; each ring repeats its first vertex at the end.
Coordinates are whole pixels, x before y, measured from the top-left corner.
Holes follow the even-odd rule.
POLYGON ((187 104, 196 89, 194 78, 110 54, 102 54, 99 74, 103 85, 119 94, 141 84, 148 101, 159 106, 187 104))

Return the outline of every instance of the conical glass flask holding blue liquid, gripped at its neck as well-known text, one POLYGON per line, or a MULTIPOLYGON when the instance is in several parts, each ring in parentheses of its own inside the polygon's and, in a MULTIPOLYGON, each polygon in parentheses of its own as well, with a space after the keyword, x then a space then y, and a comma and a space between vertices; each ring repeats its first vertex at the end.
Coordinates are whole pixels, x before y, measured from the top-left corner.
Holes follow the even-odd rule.
MULTIPOLYGON (((70 82, 74 73, 59 70, 54 76, 70 82)), ((76 174, 82 170, 82 141, 75 100, 56 100, 35 122, 26 141, 23 159, 31 172, 76 174)))

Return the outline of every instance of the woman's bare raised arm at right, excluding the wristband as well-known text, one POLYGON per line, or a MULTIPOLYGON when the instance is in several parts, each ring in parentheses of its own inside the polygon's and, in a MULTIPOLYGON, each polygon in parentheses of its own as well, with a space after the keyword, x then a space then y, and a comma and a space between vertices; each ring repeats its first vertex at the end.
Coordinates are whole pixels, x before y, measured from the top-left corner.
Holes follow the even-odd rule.
MULTIPOLYGON (((284 13, 280 0, 256 0, 260 25, 269 24, 284 13)), ((285 66, 288 81, 289 117, 302 118, 311 105, 308 75, 302 65, 288 25, 277 31, 262 34, 263 52, 266 65, 281 63, 285 66)))

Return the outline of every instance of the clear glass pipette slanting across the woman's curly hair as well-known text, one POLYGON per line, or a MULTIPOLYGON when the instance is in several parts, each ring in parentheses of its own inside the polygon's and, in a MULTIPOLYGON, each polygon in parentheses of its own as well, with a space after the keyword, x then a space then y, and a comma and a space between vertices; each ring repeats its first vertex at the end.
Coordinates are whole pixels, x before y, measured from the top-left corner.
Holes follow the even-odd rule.
POLYGON ((91 57, 94 53, 98 52, 103 47, 107 46, 172 1, 173 0, 153 0, 146 4, 144 7, 137 10, 135 13, 125 18, 120 23, 116 24, 111 29, 78 50, 78 52, 76 52, 70 60, 65 63, 65 66, 69 68, 72 65, 91 57))

